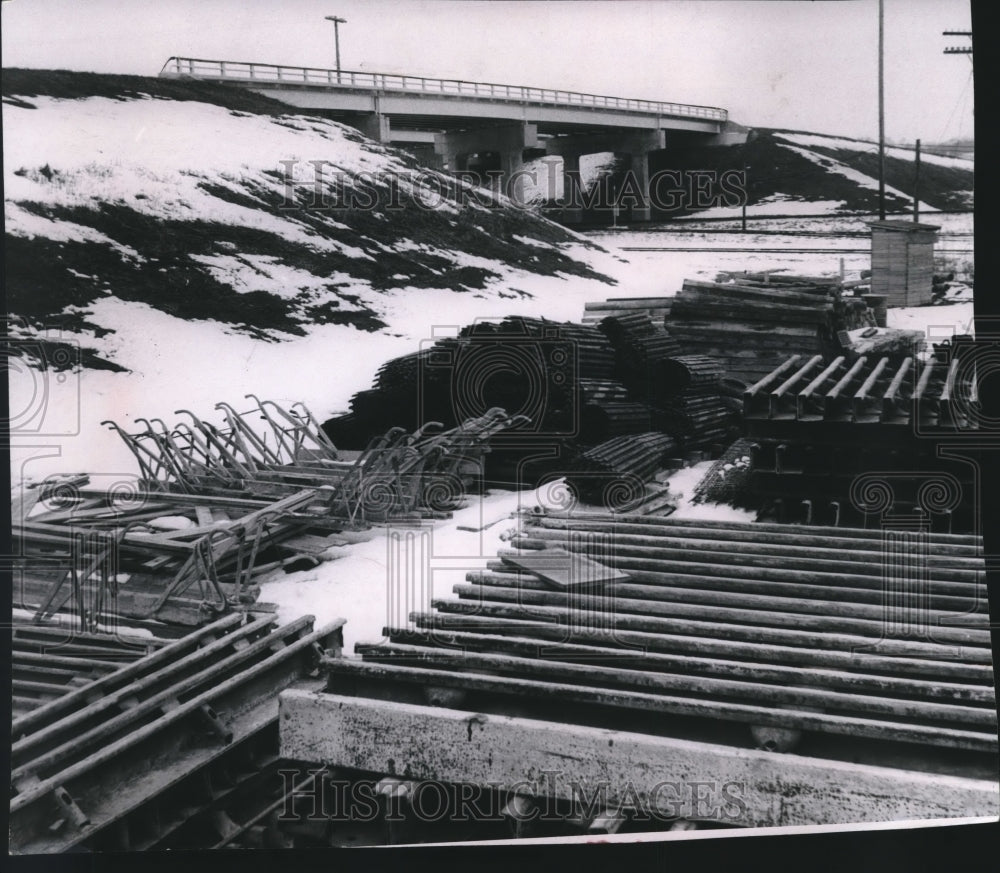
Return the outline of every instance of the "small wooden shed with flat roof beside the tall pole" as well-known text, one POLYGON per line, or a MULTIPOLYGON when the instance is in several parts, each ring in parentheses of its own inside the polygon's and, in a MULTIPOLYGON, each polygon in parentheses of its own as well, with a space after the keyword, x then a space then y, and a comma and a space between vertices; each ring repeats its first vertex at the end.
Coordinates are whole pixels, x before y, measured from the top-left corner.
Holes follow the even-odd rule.
POLYGON ((872 294, 887 306, 931 302, 937 225, 903 219, 869 221, 872 229, 872 294))

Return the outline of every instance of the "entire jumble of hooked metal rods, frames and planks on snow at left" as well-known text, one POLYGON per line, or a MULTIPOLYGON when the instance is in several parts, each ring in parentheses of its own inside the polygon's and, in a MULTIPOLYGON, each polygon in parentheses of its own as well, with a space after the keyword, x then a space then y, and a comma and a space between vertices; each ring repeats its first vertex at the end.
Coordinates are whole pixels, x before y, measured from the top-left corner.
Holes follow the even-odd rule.
POLYGON ((491 437, 520 424, 490 409, 448 430, 393 428, 347 459, 304 407, 254 400, 251 412, 218 404, 224 425, 190 412, 172 428, 136 419, 137 433, 107 422, 135 456, 138 480, 25 488, 12 505, 15 606, 36 621, 69 611, 88 632, 123 620, 197 625, 246 609, 264 573, 315 566, 352 530, 464 505, 481 486, 491 437))

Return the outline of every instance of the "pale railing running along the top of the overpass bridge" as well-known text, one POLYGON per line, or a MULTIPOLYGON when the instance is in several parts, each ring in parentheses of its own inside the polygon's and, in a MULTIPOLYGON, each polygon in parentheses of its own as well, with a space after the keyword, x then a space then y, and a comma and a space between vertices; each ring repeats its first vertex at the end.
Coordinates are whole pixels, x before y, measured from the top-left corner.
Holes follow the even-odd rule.
POLYGON ((355 70, 326 70, 314 67, 285 67, 245 61, 211 61, 201 58, 170 58, 160 70, 161 76, 192 76, 199 79, 234 79, 244 82, 326 85, 341 88, 367 88, 408 93, 454 94, 484 100, 514 100, 554 106, 587 106, 622 109, 649 115, 672 115, 725 121, 729 113, 714 106, 688 103, 662 103, 656 100, 633 100, 605 97, 578 91, 531 88, 523 85, 498 85, 490 82, 466 82, 461 79, 429 79, 394 73, 363 73, 355 70))

